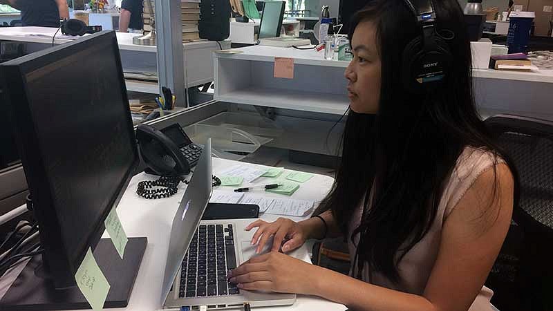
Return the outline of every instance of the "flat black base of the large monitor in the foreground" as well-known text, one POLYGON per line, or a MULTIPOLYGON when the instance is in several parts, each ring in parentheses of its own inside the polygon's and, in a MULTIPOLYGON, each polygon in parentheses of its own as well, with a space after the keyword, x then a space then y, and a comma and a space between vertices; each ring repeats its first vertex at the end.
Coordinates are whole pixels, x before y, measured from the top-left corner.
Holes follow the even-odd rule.
MULTIPOLYGON (((102 238, 98 242, 94 249, 94 258, 111 285, 104 308, 124 308, 129 304, 147 243, 147 238, 129 238, 124 258, 121 259, 111 240, 102 238)), ((52 282, 37 276, 41 271, 41 265, 42 259, 39 256, 28 262, 0 300, 1 310, 91 309, 76 285, 64 290, 55 290, 52 282)))

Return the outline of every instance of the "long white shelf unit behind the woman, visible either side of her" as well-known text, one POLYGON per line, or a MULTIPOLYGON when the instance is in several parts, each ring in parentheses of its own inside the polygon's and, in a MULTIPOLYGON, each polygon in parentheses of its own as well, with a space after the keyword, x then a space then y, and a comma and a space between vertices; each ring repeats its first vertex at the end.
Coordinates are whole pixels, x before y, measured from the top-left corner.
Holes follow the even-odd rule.
MULTIPOLYGON (((342 115, 348 109, 344 70, 349 62, 324 52, 248 46, 240 54, 214 55, 214 99, 236 104, 342 115), (294 59, 294 79, 274 77, 274 57, 294 59)), ((516 73, 475 69, 476 103, 482 115, 514 113, 553 120, 553 70, 516 73)))

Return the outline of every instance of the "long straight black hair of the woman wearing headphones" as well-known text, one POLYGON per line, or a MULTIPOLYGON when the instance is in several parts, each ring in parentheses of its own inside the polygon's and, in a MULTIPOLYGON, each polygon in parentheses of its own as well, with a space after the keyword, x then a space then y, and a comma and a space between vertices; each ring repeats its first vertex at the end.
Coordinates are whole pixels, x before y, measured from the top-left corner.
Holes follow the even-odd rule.
MULTIPOLYGON (((353 234, 360 234, 358 268, 367 262, 371 271, 393 282, 400 281, 397 264, 429 231, 444 184, 465 147, 505 158, 476 111, 460 5, 457 0, 434 3, 437 31, 449 30, 454 62, 442 84, 424 94, 410 93, 402 84, 402 52, 421 33, 404 1, 370 1, 353 17, 350 39, 362 21, 376 29, 382 64, 379 110, 376 115, 349 111, 335 184, 319 207, 332 211, 347 236, 354 211, 364 206, 353 234)), ((348 238, 353 241, 353 236, 348 238)))

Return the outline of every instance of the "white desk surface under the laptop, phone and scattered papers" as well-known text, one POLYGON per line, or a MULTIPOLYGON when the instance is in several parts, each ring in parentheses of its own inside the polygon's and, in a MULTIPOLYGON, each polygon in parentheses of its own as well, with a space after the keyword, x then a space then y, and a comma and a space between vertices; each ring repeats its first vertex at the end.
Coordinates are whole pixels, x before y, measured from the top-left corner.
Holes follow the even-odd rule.
MULTIPOLYGON (((259 167, 259 165, 255 164, 214 158, 213 170, 214 173, 221 172, 236 164, 259 167)), ((147 236, 148 246, 142 259, 142 265, 140 265, 129 306, 124 309, 109 310, 153 311, 160 308, 161 284, 167 259, 167 248, 169 247, 171 223, 178 209, 178 202, 182 198, 182 194, 184 194, 185 187, 181 183, 178 194, 171 198, 146 200, 138 196, 135 190, 138 182, 148 179, 154 178, 144 173, 135 176, 118 205, 118 215, 127 236, 147 236)), ((263 184, 269 180, 270 178, 259 178, 256 180, 256 184, 263 184)), ((302 184, 292 198, 320 201, 328 193, 332 182, 333 179, 330 177, 315 175, 308 182, 302 184)), ((247 186, 249 184, 244 185, 247 186)), ((221 187, 219 190, 232 191, 232 189, 232 187, 221 187)), ((277 194, 268 194, 268 196, 282 197, 277 194)), ((261 218, 275 220, 278 217, 277 215, 263 214, 261 218)), ((290 218, 293 220, 303 219, 299 217, 290 218)), ((104 234, 104 237, 107 237, 107 235, 104 234)), ((346 310, 346 307, 317 297, 299 296, 297 302, 292 306, 259 308, 259 310, 343 311, 346 310)))

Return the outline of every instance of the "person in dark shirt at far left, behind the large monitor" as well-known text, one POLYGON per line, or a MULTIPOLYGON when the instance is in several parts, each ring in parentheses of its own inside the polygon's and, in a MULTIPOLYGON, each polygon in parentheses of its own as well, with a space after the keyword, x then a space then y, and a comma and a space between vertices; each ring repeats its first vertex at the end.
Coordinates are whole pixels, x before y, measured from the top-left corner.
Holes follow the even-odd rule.
POLYGON ((69 18, 67 0, 0 0, 21 11, 23 26, 59 27, 60 19, 69 18))

